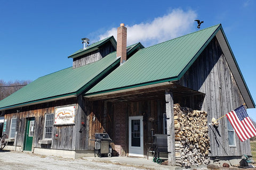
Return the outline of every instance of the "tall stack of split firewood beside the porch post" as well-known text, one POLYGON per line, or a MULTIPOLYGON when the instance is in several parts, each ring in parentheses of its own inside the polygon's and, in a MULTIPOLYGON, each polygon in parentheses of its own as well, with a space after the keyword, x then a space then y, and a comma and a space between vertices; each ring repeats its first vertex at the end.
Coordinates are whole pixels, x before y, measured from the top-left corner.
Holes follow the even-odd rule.
POLYGON ((175 157, 177 166, 209 164, 210 140, 207 113, 174 105, 175 157))

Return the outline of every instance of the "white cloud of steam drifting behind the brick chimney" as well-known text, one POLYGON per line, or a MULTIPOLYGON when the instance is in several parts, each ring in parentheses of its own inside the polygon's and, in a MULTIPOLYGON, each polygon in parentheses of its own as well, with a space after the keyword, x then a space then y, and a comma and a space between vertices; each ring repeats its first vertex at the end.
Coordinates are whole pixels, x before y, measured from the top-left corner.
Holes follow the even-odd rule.
MULTIPOLYGON (((144 46, 150 46, 163 41, 185 35, 194 30, 195 11, 172 10, 164 16, 155 18, 152 22, 125 25, 127 27, 127 45, 141 42, 144 46)), ((99 39, 114 36, 116 39, 117 28, 108 30, 99 39)))

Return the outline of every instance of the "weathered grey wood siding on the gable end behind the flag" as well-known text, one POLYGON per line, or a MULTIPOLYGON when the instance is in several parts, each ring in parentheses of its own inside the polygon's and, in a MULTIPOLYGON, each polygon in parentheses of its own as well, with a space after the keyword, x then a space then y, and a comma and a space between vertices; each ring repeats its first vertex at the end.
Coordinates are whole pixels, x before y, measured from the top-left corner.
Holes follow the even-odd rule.
MULTIPOLYGON (((207 111, 208 122, 211 122, 212 117, 219 118, 244 103, 217 38, 211 41, 194 64, 191 65, 190 69, 180 79, 180 84, 205 94, 202 111, 207 111)), ((214 133, 217 134, 215 137, 213 131, 209 128, 211 156, 251 155, 249 140, 240 142, 236 137, 236 147, 228 146, 226 117, 219 122, 218 130, 221 136, 213 128, 214 133)))

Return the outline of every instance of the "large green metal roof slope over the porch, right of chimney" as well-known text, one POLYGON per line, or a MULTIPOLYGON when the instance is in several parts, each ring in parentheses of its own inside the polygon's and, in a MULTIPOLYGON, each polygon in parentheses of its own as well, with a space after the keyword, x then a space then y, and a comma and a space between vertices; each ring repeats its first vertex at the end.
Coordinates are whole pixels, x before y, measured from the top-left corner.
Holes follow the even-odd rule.
POLYGON ((210 43, 221 24, 140 49, 87 95, 178 80, 210 43))

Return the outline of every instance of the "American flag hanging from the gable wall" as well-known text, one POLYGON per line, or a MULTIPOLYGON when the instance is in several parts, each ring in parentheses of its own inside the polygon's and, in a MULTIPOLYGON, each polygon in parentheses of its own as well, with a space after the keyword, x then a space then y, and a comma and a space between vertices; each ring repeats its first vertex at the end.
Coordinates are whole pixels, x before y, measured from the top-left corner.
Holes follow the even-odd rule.
POLYGON ((242 142, 256 135, 256 129, 243 105, 229 112, 226 116, 242 142))

